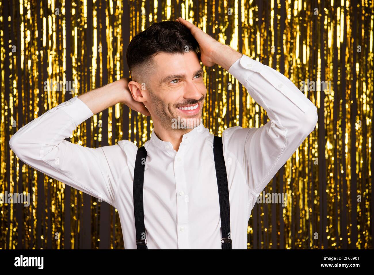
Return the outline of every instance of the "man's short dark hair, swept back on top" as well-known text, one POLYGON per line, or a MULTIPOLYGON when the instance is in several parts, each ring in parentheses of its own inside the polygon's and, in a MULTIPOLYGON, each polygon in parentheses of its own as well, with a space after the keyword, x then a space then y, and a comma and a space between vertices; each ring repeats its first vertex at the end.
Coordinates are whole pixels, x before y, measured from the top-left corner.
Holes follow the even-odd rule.
MULTIPOLYGON (((155 65, 153 56, 159 52, 184 54, 187 47, 188 51, 198 52, 198 43, 187 27, 177 21, 157 22, 131 39, 126 62, 132 75, 136 67, 146 70, 155 65)), ((141 71, 144 73, 144 70, 141 71)))

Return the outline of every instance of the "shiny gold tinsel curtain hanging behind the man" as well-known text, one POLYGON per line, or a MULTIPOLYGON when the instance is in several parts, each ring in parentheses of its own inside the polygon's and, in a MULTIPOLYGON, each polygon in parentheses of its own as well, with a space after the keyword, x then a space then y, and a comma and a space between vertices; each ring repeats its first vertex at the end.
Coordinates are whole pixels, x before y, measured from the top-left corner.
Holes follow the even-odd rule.
MULTIPOLYGON (((373 0, 0 1, 0 249, 123 248, 116 209, 36 171, 9 149, 26 123, 75 95, 128 77, 131 38, 178 16, 285 74, 318 107, 318 125, 256 204, 248 248, 373 248, 373 0), (74 92, 45 83, 74 83, 74 92), (315 83, 310 85, 310 83, 315 83), (326 83, 326 89, 322 88, 326 83), (304 85, 305 86, 305 85, 304 85)), ((260 127, 266 112, 227 71, 204 68, 205 126, 260 127)), ((152 121, 117 104, 70 137, 88 147, 150 137, 152 121)), ((261 195, 262 196, 262 195, 261 195)))

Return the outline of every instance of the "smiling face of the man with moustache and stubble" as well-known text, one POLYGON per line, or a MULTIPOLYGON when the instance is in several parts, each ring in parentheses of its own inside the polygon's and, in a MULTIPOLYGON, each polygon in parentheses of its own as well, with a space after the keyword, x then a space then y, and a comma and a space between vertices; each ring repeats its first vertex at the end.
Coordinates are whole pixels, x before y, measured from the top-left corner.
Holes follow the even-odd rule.
MULTIPOLYGON (((178 119, 189 120, 188 128, 198 126, 206 87, 196 53, 161 52, 154 56, 154 61, 157 66, 149 73, 150 79, 146 87, 148 98, 145 102, 153 122, 165 129, 175 129, 173 122, 178 119)), ((180 128, 183 128, 183 124, 180 128)))

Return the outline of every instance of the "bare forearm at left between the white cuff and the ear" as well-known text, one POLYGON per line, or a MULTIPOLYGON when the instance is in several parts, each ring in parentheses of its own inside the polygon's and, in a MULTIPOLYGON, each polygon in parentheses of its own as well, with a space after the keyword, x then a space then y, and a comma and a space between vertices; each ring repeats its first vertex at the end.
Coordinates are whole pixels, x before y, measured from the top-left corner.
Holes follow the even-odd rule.
POLYGON ((97 114, 119 102, 124 103, 126 91, 127 81, 120 79, 79 95, 78 98, 89 107, 93 114, 97 114))

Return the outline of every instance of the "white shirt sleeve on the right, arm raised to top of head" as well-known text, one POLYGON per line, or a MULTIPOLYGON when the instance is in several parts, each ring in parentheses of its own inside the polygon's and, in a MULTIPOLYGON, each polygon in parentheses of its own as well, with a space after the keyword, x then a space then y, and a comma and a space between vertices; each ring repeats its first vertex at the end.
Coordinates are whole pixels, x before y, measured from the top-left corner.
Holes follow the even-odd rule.
POLYGON ((283 74, 246 55, 232 64, 229 73, 269 117, 260 128, 234 126, 223 133, 224 149, 237 157, 253 208, 258 194, 315 128, 317 108, 283 74))

